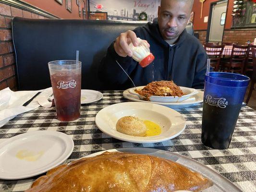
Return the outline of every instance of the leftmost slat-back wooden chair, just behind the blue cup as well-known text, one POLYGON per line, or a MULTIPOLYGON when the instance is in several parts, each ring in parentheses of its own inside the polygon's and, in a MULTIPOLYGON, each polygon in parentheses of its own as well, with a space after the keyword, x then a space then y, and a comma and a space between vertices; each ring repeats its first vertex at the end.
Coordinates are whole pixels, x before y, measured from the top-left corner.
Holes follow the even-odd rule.
POLYGON ((204 45, 208 58, 211 59, 210 65, 214 68, 215 72, 219 71, 220 58, 224 45, 204 45))

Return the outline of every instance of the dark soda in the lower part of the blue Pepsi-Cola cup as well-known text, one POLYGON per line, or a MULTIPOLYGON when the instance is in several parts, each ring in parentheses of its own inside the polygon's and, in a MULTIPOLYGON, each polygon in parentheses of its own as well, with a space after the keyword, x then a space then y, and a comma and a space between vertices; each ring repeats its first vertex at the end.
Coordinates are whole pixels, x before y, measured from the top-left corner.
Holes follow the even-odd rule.
POLYGON ((242 104, 225 108, 204 103, 202 119, 202 143, 214 149, 227 149, 239 116, 242 104))

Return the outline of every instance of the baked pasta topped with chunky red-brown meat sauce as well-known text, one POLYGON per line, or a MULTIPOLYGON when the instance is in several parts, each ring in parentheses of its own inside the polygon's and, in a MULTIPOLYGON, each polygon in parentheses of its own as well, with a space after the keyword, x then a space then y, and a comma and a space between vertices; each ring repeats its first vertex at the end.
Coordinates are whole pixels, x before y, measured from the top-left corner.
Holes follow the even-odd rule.
POLYGON ((141 90, 135 90, 136 93, 145 96, 183 96, 181 88, 174 84, 173 81, 154 81, 147 84, 141 90))

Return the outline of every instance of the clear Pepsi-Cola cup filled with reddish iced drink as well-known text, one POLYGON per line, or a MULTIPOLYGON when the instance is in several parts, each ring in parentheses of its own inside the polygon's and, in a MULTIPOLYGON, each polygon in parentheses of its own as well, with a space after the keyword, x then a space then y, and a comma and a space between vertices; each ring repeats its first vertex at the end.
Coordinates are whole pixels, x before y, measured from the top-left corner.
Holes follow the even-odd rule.
POLYGON ((57 119, 73 121, 81 111, 81 61, 56 60, 48 63, 57 119))

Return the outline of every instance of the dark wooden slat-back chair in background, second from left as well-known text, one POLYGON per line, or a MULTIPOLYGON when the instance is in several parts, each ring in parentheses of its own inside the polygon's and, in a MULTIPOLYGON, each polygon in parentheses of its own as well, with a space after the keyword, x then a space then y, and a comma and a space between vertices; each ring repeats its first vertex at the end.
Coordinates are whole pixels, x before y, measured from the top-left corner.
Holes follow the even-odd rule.
POLYGON ((223 71, 244 73, 244 64, 247 58, 249 46, 233 45, 231 57, 221 62, 223 71))

